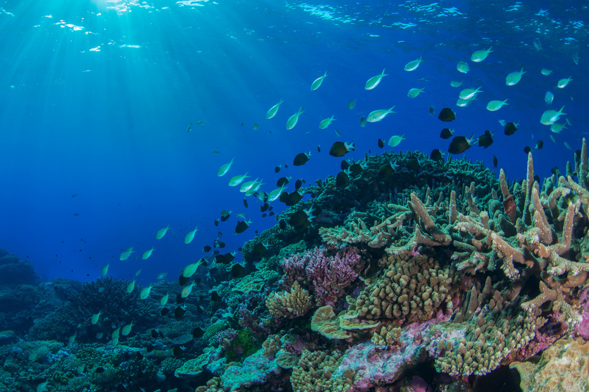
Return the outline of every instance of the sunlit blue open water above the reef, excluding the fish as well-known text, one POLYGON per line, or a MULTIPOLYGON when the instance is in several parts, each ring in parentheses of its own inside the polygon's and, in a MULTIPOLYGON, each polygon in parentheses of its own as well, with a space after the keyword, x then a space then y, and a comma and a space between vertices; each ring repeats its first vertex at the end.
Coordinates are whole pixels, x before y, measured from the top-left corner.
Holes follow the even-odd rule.
MULTIPOLYGON (((217 232, 231 251, 276 222, 261 217, 254 197, 246 209, 243 193, 227 186, 230 177, 249 172, 270 192, 285 175, 307 183, 336 175, 342 159, 328 155, 336 140, 353 140, 357 149, 346 158, 358 160, 380 151, 379 138, 404 134, 395 151, 429 153, 448 148, 450 140, 439 138, 446 126, 475 138, 488 129, 494 144, 472 146, 467 159, 492 167, 495 155, 508 177, 521 179, 524 146, 541 139, 535 173, 549 176, 554 166, 564 172, 573 158, 564 142, 580 148, 589 122, 584 2, 346 3, 0 2, 0 246, 29 260, 44 280, 92 280, 107 263, 109 274, 121 278, 142 269, 143 284, 160 272, 174 276, 203 256, 217 232), (489 46, 485 61, 469 60, 489 46), (419 56, 418 69, 403 71, 419 56), (456 71, 459 61, 471 71, 456 71), (521 82, 505 85, 505 76, 522 67, 521 82), (383 68, 389 76, 365 91, 383 68), (541 75, 541 68, 553 73, 541 75), (322 86, 310 91, 325 71, 322 86), (569 76, 570 85, 556 88, 569 76), (464 87, 452 88, 451 80, 464 87), (479 100, 455 106, 462 88, 478 86, 479 100), (411 99, 410 88, 425 93, 411 99), (546 91, 555 95, 551 106, 546 91), (267 120, 281 98, 278 114, 267 120), (497 112, 485 109, 489 100, 506 98, 509 105, 497 112), (351 99, 358 100, 353 110, 351 99), (393 105, 396 113, 382 122, 359 126, 360 116, 393 105), (430 105, 436 115, 454 109, 456 120, 442 123, 429 115, 430 105), (556 135, 539 120, 562 105, 567 116, 560 122, 573 125, 556 135), (300 106, 305 115, 286 130, 300 106), (336 121, 319 129, 332 115, 336 121), (521 128, 505 136, 500 119, 521 120, 521 128), (194 125, 199 120, 206 123, 194 125), (309 151, 305 166, 292 166, 297 153, 309 151), (218 177, 232 158, 229 173, 218 177), (278 174, 276 165, 283 166, 278 174), (233 215, 215 227, 221 209, 233 215), (237 212, 253 223, 234 236, 237 212), (156 240, 167 225, 174 233, 156 240), (184 244, 195 226, 195 239, 184 244), (137 253, 119 261, 130 246, 137 253), (151 246, 153 255, 141 260, 151 246)), ((284 209, 278 201, 273 206, 284 209)))

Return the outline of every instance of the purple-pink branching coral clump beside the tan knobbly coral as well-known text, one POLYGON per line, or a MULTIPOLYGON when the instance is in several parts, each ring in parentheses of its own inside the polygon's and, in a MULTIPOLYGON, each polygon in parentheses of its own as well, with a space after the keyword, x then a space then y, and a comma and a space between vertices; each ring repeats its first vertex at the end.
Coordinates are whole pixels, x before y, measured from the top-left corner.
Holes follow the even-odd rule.
POLYGON ((340 249, 316 247, 285 257, 280 264, 284 270, 283 286, 288 290, 294 282, 312 284, 317 304, 333 305, 352 283, 363 266, 355 247, 340 249))

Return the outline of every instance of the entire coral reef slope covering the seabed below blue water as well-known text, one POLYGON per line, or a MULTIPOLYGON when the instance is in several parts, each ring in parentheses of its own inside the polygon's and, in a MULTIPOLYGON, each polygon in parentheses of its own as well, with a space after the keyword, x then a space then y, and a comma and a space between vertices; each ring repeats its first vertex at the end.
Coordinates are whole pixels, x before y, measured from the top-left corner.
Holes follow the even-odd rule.
POLYGON ((518 182, 418 152, 359 163, 244 244, 244 271, 217 254, 144 300, 1 253, 0 391, 589 390, 585 140, 544 180, 531 153, 518 182))

